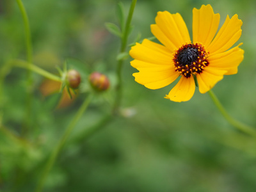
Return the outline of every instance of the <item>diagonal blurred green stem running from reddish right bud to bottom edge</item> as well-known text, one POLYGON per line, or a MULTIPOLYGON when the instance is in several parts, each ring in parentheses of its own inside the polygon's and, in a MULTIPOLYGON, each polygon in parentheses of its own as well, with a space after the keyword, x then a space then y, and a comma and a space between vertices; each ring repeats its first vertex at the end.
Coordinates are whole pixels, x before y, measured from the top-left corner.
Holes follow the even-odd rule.
POLYGON ((65 130, 65 132, 64 132, 63 136, 61 137, 60 141, 58 142, 58 144, 54 148, 54 150, 53 150, 51 156, 49 157, 49 159, 47 161, 47 164, 46 164, 46 166, 43 170, 42 177, 40 178, 38 186, 35 190, 36 192, 40 192, 44 188, 44 184, 45 184, 45 180, 47 179, 47 175, 49 174, 53 164, 55 163, 56 158, 58 157, 58 154, 60 154, 61 149, 65 145, 68 136, 70 136, 70 133, 73 131, 75 125, 78 122, 78 120, 81 118, 84 111, 86 111, 88 105, 90 104, 90 102, 92 100, 92 97, 93 97, 93 95, 88 95, 88 97, 84 100, 82 106, 79 108, 76 115, 74 116, 74 118, 72 119, 72 121, 68 125, 67 129, 65 130))

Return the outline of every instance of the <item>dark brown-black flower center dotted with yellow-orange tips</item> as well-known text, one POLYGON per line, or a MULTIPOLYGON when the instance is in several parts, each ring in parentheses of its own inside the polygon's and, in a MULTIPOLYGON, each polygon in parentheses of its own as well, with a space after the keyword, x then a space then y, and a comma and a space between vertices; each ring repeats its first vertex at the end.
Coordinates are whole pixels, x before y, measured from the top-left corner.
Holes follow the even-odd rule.
POLYGON ((204 67, 209 65, 208 54, 202 44, 182 45, 173 55, 175 71, 187 78, 191 74, 200 74, 204 67))

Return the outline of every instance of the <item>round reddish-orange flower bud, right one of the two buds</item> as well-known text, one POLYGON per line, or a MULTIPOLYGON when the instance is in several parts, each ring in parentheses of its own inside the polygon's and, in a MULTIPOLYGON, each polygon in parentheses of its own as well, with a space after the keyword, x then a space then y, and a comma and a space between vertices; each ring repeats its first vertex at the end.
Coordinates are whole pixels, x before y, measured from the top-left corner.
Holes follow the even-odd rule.
POLYGON ((90 74, 89 81, 92 87, 97 91, 104 91, 109 88, 108 77, 99 72, 93 72, 90 74))

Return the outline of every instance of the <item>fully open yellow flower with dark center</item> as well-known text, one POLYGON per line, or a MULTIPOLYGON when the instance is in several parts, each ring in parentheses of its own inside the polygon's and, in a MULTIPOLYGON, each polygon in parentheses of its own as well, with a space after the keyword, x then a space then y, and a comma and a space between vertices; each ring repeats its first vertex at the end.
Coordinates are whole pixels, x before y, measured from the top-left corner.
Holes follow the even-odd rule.
POLYGON ((200 93, 206 93, 224 75, 237 73, 243 60, 239 40, 243 22, 234 15, 227 16, 218 31, 220 14, 214 14, 210 4, 193 9, 193 43, 188 28, 179 13, 158 12, 151 31, 161 42, 150 40, 136 43, 130 51, 134 58, 131 65, 140 72, 134 73, 135 81, 152 90, 163 88, 179 76, 179 82, 166 95, 176 102, 191 99, 195 92, 196 77, 200 93), (215 36, 216 35, 216 36, 215 36), (214 37, 215 36, 215 37, 214 37))

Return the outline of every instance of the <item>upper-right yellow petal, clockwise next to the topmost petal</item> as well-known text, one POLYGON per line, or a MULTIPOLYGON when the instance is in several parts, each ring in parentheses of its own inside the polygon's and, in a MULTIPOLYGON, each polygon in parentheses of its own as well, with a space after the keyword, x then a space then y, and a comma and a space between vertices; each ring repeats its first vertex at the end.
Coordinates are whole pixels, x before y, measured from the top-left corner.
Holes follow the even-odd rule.
POLYGON ((242 24, 243 22, 242 20, 238 19, 237 14, 234 15, 231 19, 227 16, 223 26, 217 33, 214 40, 212 40, 207 50, 211 54, 227 51, 237 42, 237 40, 239 40, 242 34, 242 24))

